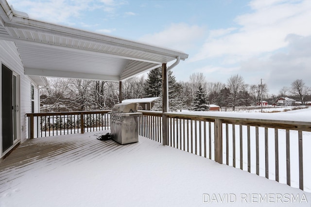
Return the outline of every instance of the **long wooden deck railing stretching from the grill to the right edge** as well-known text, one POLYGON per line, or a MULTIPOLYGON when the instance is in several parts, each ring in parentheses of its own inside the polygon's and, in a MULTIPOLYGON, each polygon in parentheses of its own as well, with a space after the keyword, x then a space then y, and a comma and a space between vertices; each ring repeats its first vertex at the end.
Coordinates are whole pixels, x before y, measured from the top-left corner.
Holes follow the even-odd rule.
MULTIPOLYGON (((162 143, 161 113, 141 112, 139 135, 162 143)), ((304 163, 311 163, 310 156, 303 157, 303 140, 307 141, 305 151, 310 151, 310 122, 260 118, 260 113, 258 118, 245 113, 245 117, 225 117, 226 113, 221 112, 208 114, 164 113, 167 144, 311 191, 311 178, 304 183, 304 175, 310 176, 311 170, 303 168, 304 163)))

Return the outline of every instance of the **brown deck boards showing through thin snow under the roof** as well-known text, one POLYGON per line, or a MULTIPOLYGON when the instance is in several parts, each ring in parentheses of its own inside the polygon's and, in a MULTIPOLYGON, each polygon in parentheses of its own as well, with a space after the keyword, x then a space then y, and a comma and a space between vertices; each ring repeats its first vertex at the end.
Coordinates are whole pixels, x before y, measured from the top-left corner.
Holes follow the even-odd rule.
POLYGON ((31 171, 49 168, 52 163, 66 165, 70 162, 83 162, 92 158, 132 150, 141 142, 121 145, 113 141, 100 141, 108 131, 87 132, 53 137, 36 138, 21 143, 0 163, 0 193, 10 188, 11 181, 31 171), (118 150, 118 151, 117 151, 118 150), (87 159, 87 160, 86 160, 87 159))

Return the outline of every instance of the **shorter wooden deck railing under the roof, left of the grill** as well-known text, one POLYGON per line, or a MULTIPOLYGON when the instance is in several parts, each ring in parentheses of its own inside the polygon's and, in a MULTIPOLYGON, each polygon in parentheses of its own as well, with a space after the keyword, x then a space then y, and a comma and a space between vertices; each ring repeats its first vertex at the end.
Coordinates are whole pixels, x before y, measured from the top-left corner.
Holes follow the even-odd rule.
POLYGON ((28 137, 48 137, 62 134, 106 130, 110 127, 110 110, 27 113, 28 137))

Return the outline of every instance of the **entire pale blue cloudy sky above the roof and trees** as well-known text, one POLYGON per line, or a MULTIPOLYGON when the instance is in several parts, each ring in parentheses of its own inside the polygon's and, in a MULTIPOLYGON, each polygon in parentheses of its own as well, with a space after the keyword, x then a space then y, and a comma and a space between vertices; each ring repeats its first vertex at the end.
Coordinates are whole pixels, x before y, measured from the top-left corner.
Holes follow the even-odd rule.
POLYGON ((177 80, 311 86, 311 0, 7 0, 30 18, 189 54, 177 80))

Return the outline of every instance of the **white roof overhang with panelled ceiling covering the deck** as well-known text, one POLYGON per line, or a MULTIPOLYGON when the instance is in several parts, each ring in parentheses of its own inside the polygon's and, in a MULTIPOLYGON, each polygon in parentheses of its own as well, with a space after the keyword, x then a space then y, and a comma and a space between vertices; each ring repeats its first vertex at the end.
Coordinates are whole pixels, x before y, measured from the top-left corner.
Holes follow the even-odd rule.
POLYGON ((188 54, 28 18, 0 0, 0 39, 16 43, 25 74, 120 81, 188 54))

